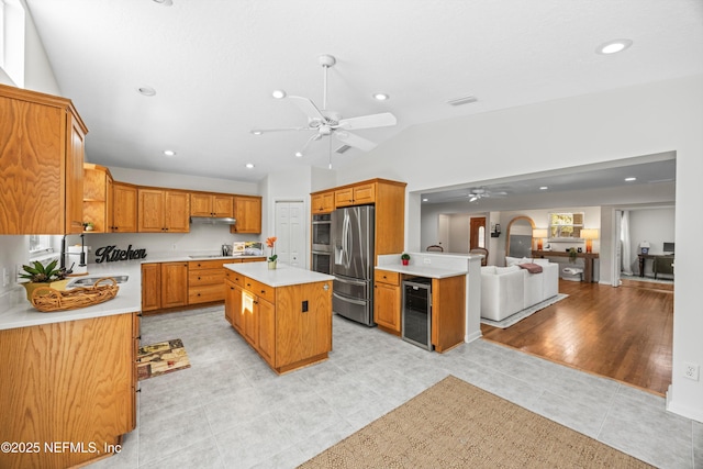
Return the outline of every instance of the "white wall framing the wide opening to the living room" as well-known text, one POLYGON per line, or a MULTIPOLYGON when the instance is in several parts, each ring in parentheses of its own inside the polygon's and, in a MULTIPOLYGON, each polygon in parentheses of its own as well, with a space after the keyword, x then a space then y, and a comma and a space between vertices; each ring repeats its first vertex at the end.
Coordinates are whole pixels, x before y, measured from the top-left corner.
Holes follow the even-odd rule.
MULTIPOLYGON (((338 182, 384 177, 408 182, 408 250, 421 247, 416 191, 472 181, 676 152, 677 210, 703 200, 703 76, 416 125, 339 172, 338 182), (510 134, 510 138, 505 135, 510 134), (432 165, 409 165, 426 161, 432 165), (470 175, 470 176, 467 176, 470 175), (414 213, 413 213, 414 212, 414 213)), ((703 217, 676 220, 679 252, 694 252, 703 217)), ((673 384, 668 407, 703 421, 703 381, 683 378, 683 362, 703 364, 703 314, 694 258, 677 258, 673 384)))

